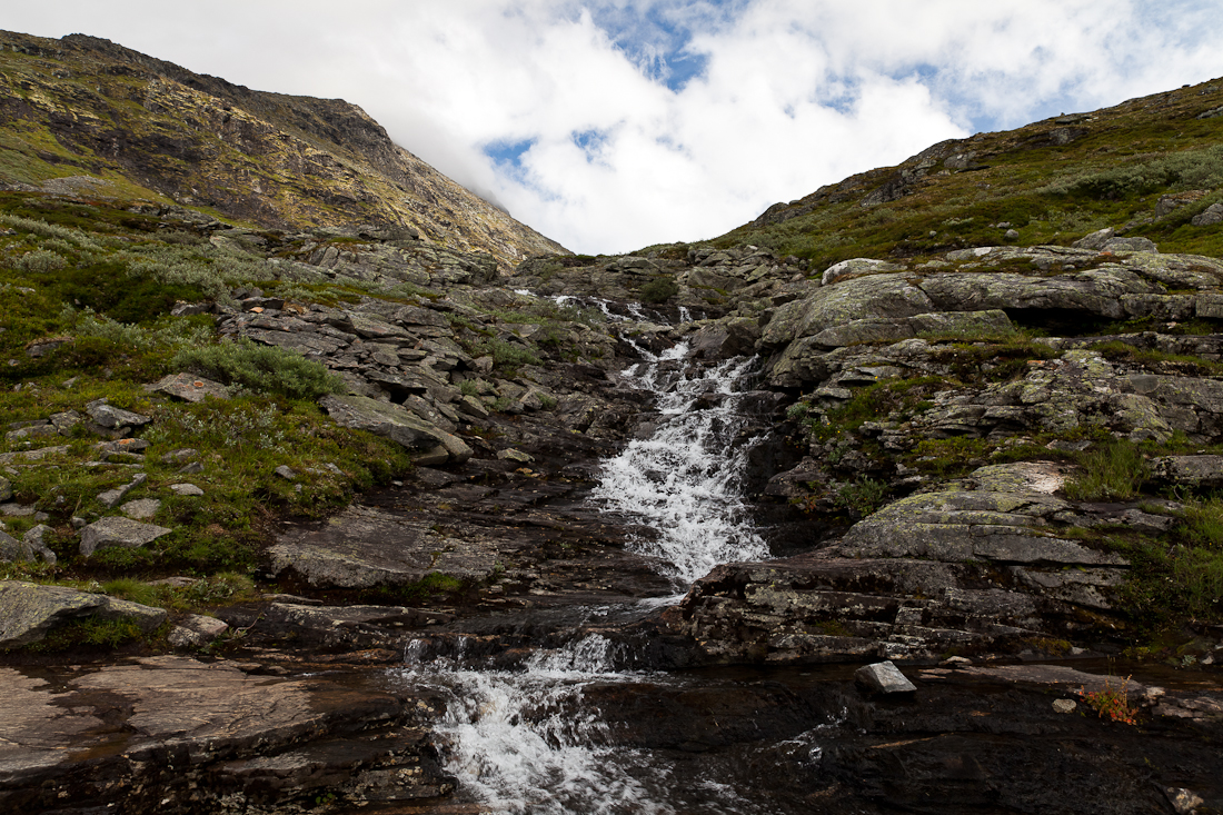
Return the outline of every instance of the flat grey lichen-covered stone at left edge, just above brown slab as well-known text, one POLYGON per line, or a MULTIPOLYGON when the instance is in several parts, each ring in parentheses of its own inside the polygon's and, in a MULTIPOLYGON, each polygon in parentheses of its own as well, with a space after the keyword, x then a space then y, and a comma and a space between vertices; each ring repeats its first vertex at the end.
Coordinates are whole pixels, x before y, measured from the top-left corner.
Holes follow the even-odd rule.
POLYGON ((144 633, 165 622, 161 608, 150 608, 106 595, 23 580, 0 581, 0 649, 43 639, 53 628, 81 617, 131 619, 144 633))

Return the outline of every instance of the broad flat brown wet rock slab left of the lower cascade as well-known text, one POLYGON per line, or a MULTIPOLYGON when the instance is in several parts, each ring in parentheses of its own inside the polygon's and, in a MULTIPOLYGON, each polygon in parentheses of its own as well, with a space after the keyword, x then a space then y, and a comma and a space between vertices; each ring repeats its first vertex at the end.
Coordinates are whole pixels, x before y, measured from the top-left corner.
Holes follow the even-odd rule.
POLYGON ((401 700, 360 677, 281 679, 161 656, 62 672, 0 668, 0 679, 4 811, 259 811, 313 802, 322 786, 353 802, 449 788, 422 768, 423 738, 400 727, 401 700), (378 732, 377 748, 363 731, 378 732), (395 788, 380 778, 388 772, 395 788))

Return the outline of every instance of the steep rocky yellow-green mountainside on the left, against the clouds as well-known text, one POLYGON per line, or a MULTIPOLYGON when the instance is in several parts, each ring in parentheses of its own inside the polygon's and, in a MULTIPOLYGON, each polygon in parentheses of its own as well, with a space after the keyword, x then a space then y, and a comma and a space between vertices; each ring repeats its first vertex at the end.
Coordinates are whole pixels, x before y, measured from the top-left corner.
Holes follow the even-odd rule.
POLYGON ((342 99, 251 91, 105 39, 0 32, 0 184, 182 204, 264 229, 396 228, 503 269, 558 244, 342 99))

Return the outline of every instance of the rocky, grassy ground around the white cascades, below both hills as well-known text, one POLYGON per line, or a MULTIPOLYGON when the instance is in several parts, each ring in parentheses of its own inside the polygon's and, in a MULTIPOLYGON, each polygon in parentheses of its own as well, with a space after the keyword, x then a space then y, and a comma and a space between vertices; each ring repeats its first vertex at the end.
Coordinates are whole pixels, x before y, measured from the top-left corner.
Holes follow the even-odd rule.
MULTIPOLYGON (((57 48, 86 47, 119 54, 57 48)), ((190 88, 171 67, 141 70, 190 88)), ((1038 158, 1090 124, 988 136, 1038 158)), ((751 798, 685 788, 676 811, 1223 808, 1223 261, 1191 251, 1223 230, 1214 193, 1135 190, 1057 240, 994 213, 989 241, 778 242, 835 208, 949 206, 918 198, 985 171, 950 155, 511 274, 366 210, 0 196, 0 800, 490 811, 422 666, 596 638, 651 672, 585 687, 603 745, 751 798), (657 531, 591 494, 663 420, 645 362, 733 357, 755 359, 734 445, 773 557, 676 585, 657 531)))

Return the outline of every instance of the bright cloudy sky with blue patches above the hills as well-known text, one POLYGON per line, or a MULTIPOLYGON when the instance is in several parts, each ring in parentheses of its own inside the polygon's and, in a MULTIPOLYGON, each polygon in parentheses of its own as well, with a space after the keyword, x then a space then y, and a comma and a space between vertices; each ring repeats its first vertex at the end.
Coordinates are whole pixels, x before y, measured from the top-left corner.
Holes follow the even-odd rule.
POLYGON ((56 0, 104 37, 342 98, 575 252, 720 235, 945 138, 1223 76, 1218 0, 56 0))

